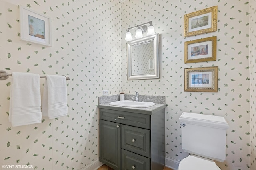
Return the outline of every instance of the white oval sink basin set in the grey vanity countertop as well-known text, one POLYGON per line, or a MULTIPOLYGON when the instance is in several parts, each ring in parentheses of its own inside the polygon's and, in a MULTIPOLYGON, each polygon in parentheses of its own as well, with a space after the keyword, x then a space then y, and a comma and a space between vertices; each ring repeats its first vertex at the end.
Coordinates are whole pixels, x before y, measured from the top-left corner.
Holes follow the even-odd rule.
POLYGON ((142 108, 142 107, 154 106, 155 103, 153 103, 153 102, 135 102, 132 100, 121 100, 121 101, 111 102, 110 105, 142 108))

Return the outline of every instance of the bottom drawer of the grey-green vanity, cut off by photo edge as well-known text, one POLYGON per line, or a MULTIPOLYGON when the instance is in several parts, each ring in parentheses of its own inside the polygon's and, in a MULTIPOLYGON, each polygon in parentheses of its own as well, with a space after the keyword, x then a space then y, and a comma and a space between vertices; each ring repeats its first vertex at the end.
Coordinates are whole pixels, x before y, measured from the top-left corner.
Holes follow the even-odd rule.
POLYGON ((122 170, 150 170, 150 158, 122 149, 122 170))

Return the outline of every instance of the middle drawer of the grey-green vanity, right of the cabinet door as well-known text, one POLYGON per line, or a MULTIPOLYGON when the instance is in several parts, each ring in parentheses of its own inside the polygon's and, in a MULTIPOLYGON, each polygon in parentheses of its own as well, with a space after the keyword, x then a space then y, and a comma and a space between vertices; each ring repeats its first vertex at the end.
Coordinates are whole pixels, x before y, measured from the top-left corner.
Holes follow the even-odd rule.
POLYGON ((121 125, 121 147, 150 158, 150 130, 121 125))

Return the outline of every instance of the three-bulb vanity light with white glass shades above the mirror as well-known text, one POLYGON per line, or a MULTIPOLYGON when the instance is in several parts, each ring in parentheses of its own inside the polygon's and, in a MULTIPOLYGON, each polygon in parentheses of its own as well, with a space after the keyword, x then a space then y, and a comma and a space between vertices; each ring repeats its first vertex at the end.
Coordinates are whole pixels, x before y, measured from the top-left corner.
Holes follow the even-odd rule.
POLYGON ((142 34, 144 34, 147 30, 148 30, 147 35, 154 35, 155 34, 154 26, 152 24, 152 21, 149 21, 149 22, 142 23, 140 25, 136 25, 134 27, 128 28, 127 32, 126 32, 126 36, 125 36, 126 41, 131 41, 132 40, 132 33, 130 32, 130 29, 134 29, 134 28, 137 28, 135 38, 142 38, 143 37, 142 34), (148 27, 147 27, 147 24, 149 24, 148 27))

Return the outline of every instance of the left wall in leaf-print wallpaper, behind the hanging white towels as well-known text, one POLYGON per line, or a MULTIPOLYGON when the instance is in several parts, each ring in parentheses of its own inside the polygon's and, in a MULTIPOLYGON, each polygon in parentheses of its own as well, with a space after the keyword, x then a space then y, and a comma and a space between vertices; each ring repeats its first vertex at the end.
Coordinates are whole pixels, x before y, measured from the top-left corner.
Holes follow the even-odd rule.
MULTIPOLYGON (((8 122, 12 78, 0 80, 0 164, 38 170, 80 169, 99 157, 98 96, 121 86, 118 0, 0 1, 0 70, 66 74, 68 116, 12 127, 8 122), (8 3, 11 2, 11 3, 8 3), (22 5, 52 18, 52 47, 20 41, 22 5)), ((44 79, 40 80, 41 84, 44 79)), ((42 89, 42 88, 41 88, 42 89)))

